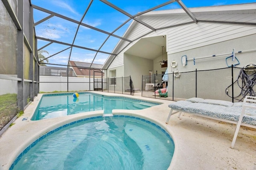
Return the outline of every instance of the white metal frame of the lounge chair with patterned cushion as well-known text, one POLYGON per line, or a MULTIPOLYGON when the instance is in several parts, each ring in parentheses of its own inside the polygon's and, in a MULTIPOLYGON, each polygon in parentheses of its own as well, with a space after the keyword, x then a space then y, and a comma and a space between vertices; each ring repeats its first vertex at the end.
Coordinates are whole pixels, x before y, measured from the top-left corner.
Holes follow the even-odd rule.
POLYGON ((199 113, 192 113, 192 112, 187 112, 187 111, 184 111, 184 110, 177 110, 177 109, 171 108, 171 110, 169 112, 169 115, 168 115, 168 117, 166 119, 166 124, 168 124, 168 121, 170 120, 171 115, 179 113, 178 118, 180 118, 180 115, 181 115, 182 112, 183 112, 183 115, 185 113, 190 113, 190 114, 195 114, 195 115, 198 115, 198 116, 201 116, 201 117, 207 117, 207 118, 210 118, 210 119, 215 119, 215 120, 224 121, 224 122, 228 122, 228 123, 234 123, 234 124, 236 124, 236 128, 235 128, 234 137, 233 137, 233 140, 232 140, 232 143, 231 143, 231 148, 233 149, 234 145, 235 145, 235 142, 236 142, 237 135, 238 135, 238 131, 239 131, 241 125, 256 129, 256 125, 242 123, 242 119, 244 117, 245 109, 246 108, 256 109, 255 106, 246 105, 248 102, 256 103, 256 97, 246 96, 244 98, 243 105, 242 105, 242 111, 241 111, 241 114, 240 114, 240 117, 239 117, 238 121, 231 121, 231 120, 227 120, 227 119, 221 119, 221 118, 217 118, 217 117, 211 117, 211 116, 207 116, 207 115, 202 115, 202 114, 199 114, 199 113))

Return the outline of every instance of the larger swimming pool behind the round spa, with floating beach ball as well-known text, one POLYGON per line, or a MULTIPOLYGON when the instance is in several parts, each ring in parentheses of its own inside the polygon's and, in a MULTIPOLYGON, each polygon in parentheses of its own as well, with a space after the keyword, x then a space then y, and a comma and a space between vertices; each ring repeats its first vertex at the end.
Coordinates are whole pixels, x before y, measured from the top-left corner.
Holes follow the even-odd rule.
POLYGON ((96 110, 104 110, 104 113, 112 113, 113 109, 138 110, 159 105, 159 103, 119 96, 104 96, 90 92, 80 92, 78 98, 74 98, 73 94, 43 94, 31 120, 48 119, 96 110))

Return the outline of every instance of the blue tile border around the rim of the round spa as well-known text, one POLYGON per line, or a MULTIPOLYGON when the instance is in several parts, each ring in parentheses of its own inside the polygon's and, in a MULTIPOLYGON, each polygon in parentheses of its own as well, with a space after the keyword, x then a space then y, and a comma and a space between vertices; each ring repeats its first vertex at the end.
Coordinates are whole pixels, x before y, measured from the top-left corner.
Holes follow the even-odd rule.
MULTIPOLYGON (((146 122, 154 127, 156 127, 157 129, 160 129, 165 135, 166 137, 168 137, 168 139, 170 141, 173 142, 173 139, 172 137, 170 136, 170 134, 164 129, 162 128, 161 126, 157 125, 156 123, 153 123, 151 121, 148 121, 146 119, 143 119, 143 118, 140 118, 140 117, 136 117, 136 116, 130 116, 130 115, 113 115, 113 117, 125 117, 125 118, 130 118, 130 119, 136 119, 136 120, 140 120, 140 121, 143 121, 143 122, 146 122)), ((52 129, 51 131, 45 133, 44 135, 40 136, 38 139, 36 139, 34 142, 32 142, 28 147, 26 147, 17 157, 16 159, 14 160, 14 162, 12 162, 12 165, 10 166, 9 170, 13 170, 14 166, 19 162, 19 160, 22 158, 22 156, 24 154, 26 154, 28 152, 28 150, 30 150, 32 147, 34 147, 38 142, 42 141, 44 138, 46 138, 47 136, 51 135, 52 133, 56 132, 56 131, 59 131, 60 129, 63 129, 64 127, 68 127, 70 125, 74 125, 75 123, 79 123, 79 122, 82 122, 82 121, 88 121, 88 120, 93 120, 93 119, 100 119, 102 118, 102 116, 94 116, 94 117, 87 117, 87 118, 84 118, 84 119, 79 119, 79 120, 76 120, 76 121, 72 121, 70 123, 66 123, 60 127, 57 127, 55 129, 52 129)))

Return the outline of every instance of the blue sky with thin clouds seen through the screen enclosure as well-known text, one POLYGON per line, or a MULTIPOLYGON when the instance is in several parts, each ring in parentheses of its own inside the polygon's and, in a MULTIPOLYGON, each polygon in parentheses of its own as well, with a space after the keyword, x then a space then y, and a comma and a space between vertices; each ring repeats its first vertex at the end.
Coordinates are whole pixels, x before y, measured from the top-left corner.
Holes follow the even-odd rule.
MULTIPOLYGON (((148 10, 149 8, 160 5, 167 1, 168 0, 109 0, 109 2, 111 2, 115 6, 118 6, 122 10, 132 15, 137 14, 138 12, 148 10)), ((40 6, 52 12, 56 12, 68 18, 80 21, 86 8, 88 7, 90 0, 31 0, 31 2, 33 5, 40 6)), ((256 1, 182 0, 182 2, 188 8, 194 8, 202 6, 251 3, 256 1)), ((159 8, 158 10, 169 10, 177 8, 180 8, 180 6, 176 2, 174 2, 172 4, 169 4, 168 6, 159 8)), ((34 9, 35 23, 47 16, 49 16, 49 14, 34 9)), ((111 33, 127 19, 128 17, 124 14, 114 10, 113 8, 107 6, 99 0, 94 0, 82 22, 111 33)), ((130 23, 131 21, 126 23, 126 25, 118 29, 116 32, 114 32, 114 34, 122 37, 130 23)), ((72 44, 77 27, 77 24, 55 16, 53 18, 50 18, 49 20, 44 21, 43 23, 40 23, 39 25, 36 25, 36 35, 38 37, 54 39, 56 41, 72 44)), ((95 31, 88 27, 80 26, 76 36, 76 40, 74 41, 74 45, 98 50, 107 37, 108 35, 104 33, 95 31)), ((100 51, 111 53, 118 41, 118 38, 111 36, 108 41, 106 41, 106 43, 102 46, 100 51)), ((46 45, 47 43, 48 42, 46 41, 38 40, 38 48, 46 45)), ((66 48, 68 48, 68 46, 53 43, 44 49, 49 53, 49 55, 44 54, 44 56, 48 57, 66 48)), ((66 65, 68 63, 69 54, 70 49, 63 51, 62 53, 59 53, 54 57, 50 57, 49 63, 66 65)), ((91 63, 95 55, 96 52, 94 51, 73 48, 70 60, 91 63)), ((96 55, 94 63, 103 64, 108 56, 108 54, 98 53, 96 55)))

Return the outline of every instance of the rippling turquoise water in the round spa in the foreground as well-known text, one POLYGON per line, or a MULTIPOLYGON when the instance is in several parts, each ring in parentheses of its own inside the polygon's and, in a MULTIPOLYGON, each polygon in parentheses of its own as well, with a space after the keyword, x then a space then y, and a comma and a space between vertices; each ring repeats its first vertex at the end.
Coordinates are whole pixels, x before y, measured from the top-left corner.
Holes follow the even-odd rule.
POLYGON ((166 170, 170 135, 146 119, 90 117, 52 130, 28 146, 10 170, 166 170))

